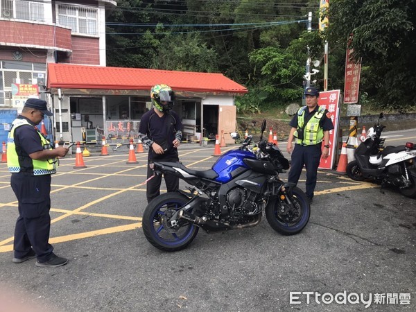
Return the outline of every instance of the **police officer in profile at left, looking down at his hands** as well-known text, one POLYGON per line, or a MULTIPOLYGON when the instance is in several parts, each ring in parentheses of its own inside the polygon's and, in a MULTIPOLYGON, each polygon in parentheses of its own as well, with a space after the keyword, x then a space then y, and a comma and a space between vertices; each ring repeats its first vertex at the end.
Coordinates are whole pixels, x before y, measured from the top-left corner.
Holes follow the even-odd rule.
POLYGON ((22 263, 36 257, 36 266, 57 267, 68 259, 56 256, 49 244, 51 174, 56 173, 57 157, 67 155, 69 149, 52 148, 37 130, 44 115, 52 116, 46 101, 28 98, 8 135, 10 184, 19 202, 12 261, 22 263))

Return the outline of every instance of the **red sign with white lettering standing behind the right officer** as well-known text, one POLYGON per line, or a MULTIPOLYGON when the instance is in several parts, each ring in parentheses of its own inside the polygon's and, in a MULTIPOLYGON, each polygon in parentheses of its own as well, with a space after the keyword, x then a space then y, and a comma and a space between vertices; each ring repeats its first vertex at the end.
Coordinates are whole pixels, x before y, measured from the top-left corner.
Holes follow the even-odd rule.
POLYGON ((320 160, 319 168, 332 169, 335 162, 335 150, 337 148, 338 125, 340 119, 340 90, 324 91, 319 93, 318 105, 328 110, 328 116, 333 123, 333 130, 329 131, 329 156, 320 160))

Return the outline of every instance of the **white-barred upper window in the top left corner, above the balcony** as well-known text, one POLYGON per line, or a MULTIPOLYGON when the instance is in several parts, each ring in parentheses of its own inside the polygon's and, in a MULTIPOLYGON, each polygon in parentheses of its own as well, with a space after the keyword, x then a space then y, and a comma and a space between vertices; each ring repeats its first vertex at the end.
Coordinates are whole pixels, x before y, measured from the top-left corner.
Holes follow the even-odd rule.
POLYGON ((44 3, 40 1, 1 0, 0 16, 6 19, 45 21, 44 3))

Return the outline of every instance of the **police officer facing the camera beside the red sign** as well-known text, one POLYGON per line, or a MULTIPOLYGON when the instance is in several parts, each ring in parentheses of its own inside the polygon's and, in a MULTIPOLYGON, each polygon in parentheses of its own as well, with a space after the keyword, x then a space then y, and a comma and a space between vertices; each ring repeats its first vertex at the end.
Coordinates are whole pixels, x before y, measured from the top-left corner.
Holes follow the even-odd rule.
POLYGON ((300 107, 289 123, 292 128, 286 148, 289 154, 292 153, 292 161, 288 182, 297 184, 305 166, 306 196, 311 203, 321 155, 323 159, 327 159, 329 155, 329 130, 333 129, 333 123, 329 118, 329 112, 318 106, 319 92, 315 87, 307 87, 304 96, 306 106, 300 107))

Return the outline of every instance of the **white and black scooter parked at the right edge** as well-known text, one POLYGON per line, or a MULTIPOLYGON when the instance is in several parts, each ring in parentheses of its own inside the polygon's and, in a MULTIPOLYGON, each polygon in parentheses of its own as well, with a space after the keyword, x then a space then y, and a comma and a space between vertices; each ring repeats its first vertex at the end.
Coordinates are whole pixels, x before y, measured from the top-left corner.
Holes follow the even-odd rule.
POLYGON ((354 152, 355 160, 347 165, 347 175, 355 181, 374 179, 381 187, 398 187, 401 194, 416 197, 416 147, 408 142, 405 146, 383 146, 380 114, 374 127, 367 131, 367 138, 354 152))

